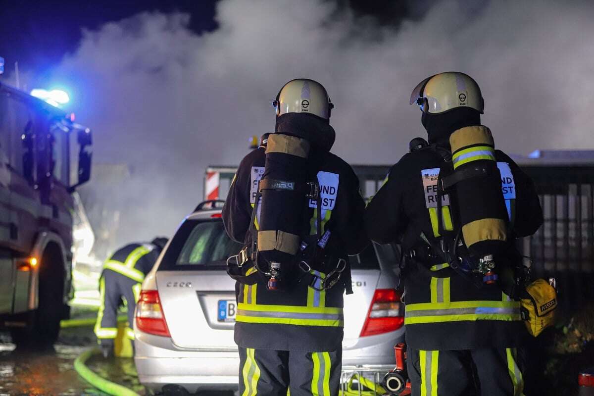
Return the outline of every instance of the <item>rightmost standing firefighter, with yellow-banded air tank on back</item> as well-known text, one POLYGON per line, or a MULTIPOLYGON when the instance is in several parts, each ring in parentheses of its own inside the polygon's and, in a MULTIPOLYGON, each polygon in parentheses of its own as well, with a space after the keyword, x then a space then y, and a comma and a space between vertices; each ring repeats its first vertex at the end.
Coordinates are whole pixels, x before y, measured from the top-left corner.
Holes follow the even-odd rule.
MULTIPOLYGON (((542 210, 532 180, 481 125, 484 102, 460 72, 423 80, 428 142, 416 138, 369 202, 365 224, 379 243, 401 243, 407 371, 413 395, 521 395, 516 355, 522 257, 542 210), (473 376, 476 375, 476 382, 473 376), (477 384, 478 382, 478 384, 477 384)), ((515 133, 515 132, 511 132, 515 133)))

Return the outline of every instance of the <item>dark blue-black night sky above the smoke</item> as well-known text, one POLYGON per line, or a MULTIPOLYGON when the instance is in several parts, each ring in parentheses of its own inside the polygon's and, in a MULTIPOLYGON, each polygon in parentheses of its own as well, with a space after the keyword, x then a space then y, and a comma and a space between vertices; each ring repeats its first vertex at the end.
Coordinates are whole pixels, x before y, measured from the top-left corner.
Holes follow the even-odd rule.
MULTIPOLYGON (((333 1, 333 0, 330 0, 333 1)), ((431 0, 356 1, 334 0, 351 8, 359 17, 372 18, 384 25, 396 25, 403 17, 416 19, 430 7, 431 0)), ((118 21, 142 11, 187 12, 189 28, 195 33, 217 28, 214 20, 216 0, 121 0, 121 1, 15 1, 4 0, 0 11, 0 56, 5 73, 33 72, 43 80, 65 53, 74 51, 81 29, 96 30, 106 22, 118 21)))

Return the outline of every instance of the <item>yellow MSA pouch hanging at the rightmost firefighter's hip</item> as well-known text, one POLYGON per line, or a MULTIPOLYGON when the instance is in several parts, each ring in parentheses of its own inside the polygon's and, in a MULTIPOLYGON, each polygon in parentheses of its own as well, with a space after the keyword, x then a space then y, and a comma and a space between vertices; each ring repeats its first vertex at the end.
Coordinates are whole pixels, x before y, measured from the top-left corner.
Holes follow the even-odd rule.
POLYGON ((522 297, 522 319, 533 337, 555 323, 555 308, 557 292, 546 280, 537 279, 526 287, 522 297))

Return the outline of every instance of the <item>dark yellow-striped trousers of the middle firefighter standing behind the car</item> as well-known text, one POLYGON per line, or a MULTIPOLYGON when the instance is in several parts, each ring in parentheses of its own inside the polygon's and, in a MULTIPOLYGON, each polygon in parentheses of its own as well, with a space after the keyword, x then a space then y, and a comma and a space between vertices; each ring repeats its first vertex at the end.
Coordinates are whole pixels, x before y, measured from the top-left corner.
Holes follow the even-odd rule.
POLYGON ((279 351, 239 347, 239 396, 336 396, 342 349, 279 351))

